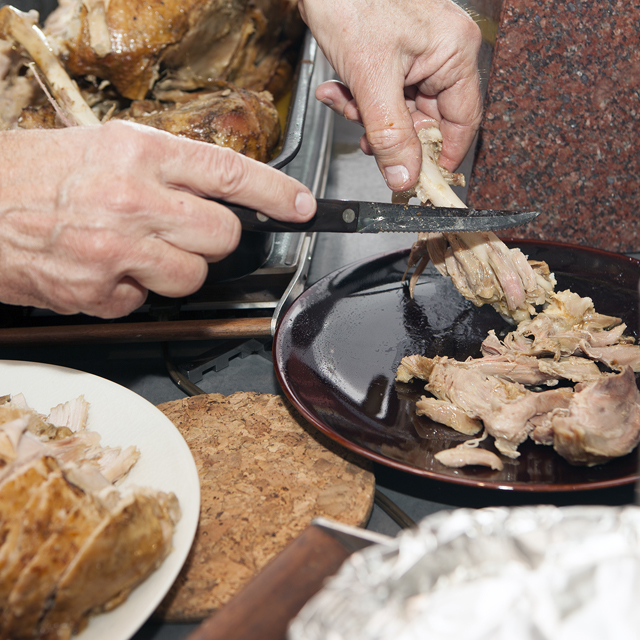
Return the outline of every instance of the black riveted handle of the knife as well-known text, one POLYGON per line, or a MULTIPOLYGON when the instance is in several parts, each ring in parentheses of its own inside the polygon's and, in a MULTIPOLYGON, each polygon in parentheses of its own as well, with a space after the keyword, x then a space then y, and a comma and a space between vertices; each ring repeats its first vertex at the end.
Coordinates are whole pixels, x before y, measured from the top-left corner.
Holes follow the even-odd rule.
POLYGON ((220 202, 227 209, 235 213, 242 228, 247 231, 332 231, 341 233, 353 233, 358 228, 358 216, 360 215, 360 203, 354 200, 326 200, 318 199, 318 211, 307 222, 281 222, 268 218, 264 214, 237 204, 220 202))

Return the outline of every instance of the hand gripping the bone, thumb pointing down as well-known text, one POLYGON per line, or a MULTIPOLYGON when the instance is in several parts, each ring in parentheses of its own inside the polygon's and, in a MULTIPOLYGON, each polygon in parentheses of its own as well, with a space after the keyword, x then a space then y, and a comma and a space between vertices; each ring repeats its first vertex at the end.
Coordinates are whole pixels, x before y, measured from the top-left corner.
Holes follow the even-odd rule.
POLYGON ((455 170, 482 114, 481 34, 451 0, 299 0, 302 16, 344 84, 316 97, 364 125, 361 147, 389 187, 412 187, 420 172, 416 129, 440 128, 440 164, 455 170))

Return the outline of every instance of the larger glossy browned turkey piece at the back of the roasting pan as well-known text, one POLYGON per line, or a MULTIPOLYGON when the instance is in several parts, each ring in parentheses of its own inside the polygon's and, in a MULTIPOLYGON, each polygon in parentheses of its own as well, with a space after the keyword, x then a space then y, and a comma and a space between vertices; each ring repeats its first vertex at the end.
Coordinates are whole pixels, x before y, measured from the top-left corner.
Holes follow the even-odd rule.
POLYGON ((242 79, 241 86, 263 90, 302 24, 292 0, 110 0, 104 15, 90 14, 87 4, 70 2, 46 32, 71 75, 107 79, 132 100, 147 97, 161 63, 183 89, 242 79), (106 54, 91 39, 96 22, 108 32, 106 54))

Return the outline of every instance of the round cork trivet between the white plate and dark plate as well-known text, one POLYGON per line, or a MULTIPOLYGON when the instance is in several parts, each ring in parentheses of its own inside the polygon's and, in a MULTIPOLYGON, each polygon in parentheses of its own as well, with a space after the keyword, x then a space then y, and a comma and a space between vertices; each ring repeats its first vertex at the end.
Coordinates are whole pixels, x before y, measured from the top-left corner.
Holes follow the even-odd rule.
POLYGON ((201 508, 191 552, 156 618, 206 618, 315 517, 366 524, 370 463, 319 433, 287 400, 214 393, 159 408, 191 448, 201 508))

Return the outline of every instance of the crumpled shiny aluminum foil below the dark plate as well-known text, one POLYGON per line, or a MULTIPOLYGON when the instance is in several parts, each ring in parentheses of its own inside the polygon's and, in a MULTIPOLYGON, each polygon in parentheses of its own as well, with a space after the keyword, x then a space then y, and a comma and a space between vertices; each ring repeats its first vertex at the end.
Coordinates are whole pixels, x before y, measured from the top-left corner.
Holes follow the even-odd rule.
POLYGON ((640 638, 640 507, 458 509, 353 554, 290 640, 640 638))

